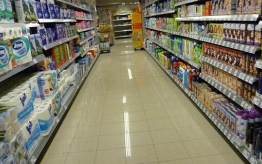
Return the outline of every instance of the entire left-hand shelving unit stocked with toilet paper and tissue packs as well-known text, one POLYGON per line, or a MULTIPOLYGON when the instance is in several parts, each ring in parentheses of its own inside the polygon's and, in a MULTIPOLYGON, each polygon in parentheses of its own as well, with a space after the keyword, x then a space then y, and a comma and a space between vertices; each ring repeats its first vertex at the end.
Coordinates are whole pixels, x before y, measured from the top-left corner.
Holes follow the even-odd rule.
POLYGON ((64 0, 0 8, 0 163, 35 163, 100 54, 94 9, 64 0))

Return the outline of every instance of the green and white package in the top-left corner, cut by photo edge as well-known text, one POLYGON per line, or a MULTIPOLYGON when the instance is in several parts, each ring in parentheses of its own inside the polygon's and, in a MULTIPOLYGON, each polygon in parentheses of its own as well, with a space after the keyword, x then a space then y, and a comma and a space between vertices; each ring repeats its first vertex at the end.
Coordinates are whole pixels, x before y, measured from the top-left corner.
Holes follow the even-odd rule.
POLYGON ((14 15, 10 0, 0 1, 0 23, 13 23, 14 15))

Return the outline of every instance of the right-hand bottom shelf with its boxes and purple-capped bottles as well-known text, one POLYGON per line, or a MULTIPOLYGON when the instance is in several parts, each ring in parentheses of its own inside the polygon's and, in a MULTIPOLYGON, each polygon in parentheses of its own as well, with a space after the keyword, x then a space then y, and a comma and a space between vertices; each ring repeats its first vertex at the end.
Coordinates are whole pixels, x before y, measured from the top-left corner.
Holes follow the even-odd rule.
MULTIPOLYGON (((199 107, 199 109, 213 122, 217 129, 223 133, 225 137, 232 143, 232 145, 252 164, 262 163, 261 162, 261 151, 259 150, 260 138, 256 138, 255 144, 252 141, 248 142, 249 139, 253 139, 253 136, 246 134, 246 131, 239 128, 241 121, 237 121, 237 118, 233 115, 239 115, 239 113, 231 113, 224 110, 223 105, 231 105, 229 111, 235 107, 222 95, 212 92, 212 89, 205 83, 201 83, 199 74, 195 76, 195 80, 190 84, 191 81, 184 81, 181 79, 180 73, 174 74, 172 70, 167 69, 163 63, 155 57, 155 53, 144 48, 147 53, 156 61, 156 63, 162 68, 162 70, 168 74, 173 81, 180 87, 180 89, 188 95, 188 97, 194 101, 194 103, 199 107), (197 79, 200 79, 199 81, 197 79), (185 84, 188 83, 188 84, 185 84), (192 86, 191 86, 192 85, 192 86), (221 102, 220 102, 221 101, 221 102), (227 113, 227 114, 226 114, 227 113), (259 143, 258 143, 259 142, 259 143), (253 144, 253 145, 252 145, 253 144), (254 149, 257 148, 257 149, 254 149)), ((183 76, 183 75, 182 75, 183 76)), ((188 78, 188 77, 186 77, 188 78)), ((233 111, 233 110, 232 110, 233 111)), ((255 110, 254 110, 255 111, 255 110)), ((257 111, 258 112, 258 111, 257 111)), ((260 118, 261 115, 259 115, 260 118)), ((244 116, 243 116, 244 117, 244 116)), ((246 119, 247 120, 247 119, 246 119)), ((247 125, 247 121, 246 121, 247 125)), ((259 129, 259 128, 258 128, 259 129)), ((259 130, 255 130, 254 133, 260 134, 259 130)))

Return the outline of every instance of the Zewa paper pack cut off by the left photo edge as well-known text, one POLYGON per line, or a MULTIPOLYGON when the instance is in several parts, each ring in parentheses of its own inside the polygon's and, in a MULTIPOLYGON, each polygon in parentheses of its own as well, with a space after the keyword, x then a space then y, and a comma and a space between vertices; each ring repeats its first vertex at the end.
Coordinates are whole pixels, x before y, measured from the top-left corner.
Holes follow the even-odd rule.
POLYGON ((0 75, 10 71, 13 68, 8 49, 7 42, 0 41, 0 75))

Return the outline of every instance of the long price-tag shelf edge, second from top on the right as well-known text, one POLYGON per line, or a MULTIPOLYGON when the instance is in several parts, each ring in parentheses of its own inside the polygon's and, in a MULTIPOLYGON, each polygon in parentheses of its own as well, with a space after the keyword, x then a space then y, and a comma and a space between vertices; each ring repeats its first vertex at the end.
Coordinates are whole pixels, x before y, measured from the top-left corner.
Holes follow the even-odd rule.
POLYGON ((229 42, 229 41, 226 41, 226 40, 214 39, 214 38, 211 38, 211 37, 204 37, 204 36, 199 36, 199 35, 195 35, 195 34, 188 34, 188 33, 182 33, 182 32, 177 32, 177 31, 173 31, 173 30, 165 30, 165 29, 152 28, 152 27, 145 27, 145 28, 157 30, 157 31, 161 31, 161 32, 166 32, 166 33, 170 33, 170 34, 174 34, 174 35, 178 35, 178 36, 188 37, 188 38, 192 38, 192 39, 195 39, 195 40, 200 40, 202 42, 207 42, 207 43, 211 43, 211 44, 214 44, 214 45, 228 47, 228 48, 231 48, 231 49, 240 50, 240 51, 248 52, 248 53, 251 53, 251 54, 255 54, 256 51, 260 50, 260 47, 258 47, 258 46, 244 45, 244 44, 229 42))

